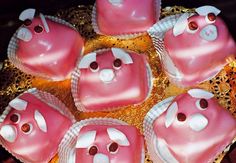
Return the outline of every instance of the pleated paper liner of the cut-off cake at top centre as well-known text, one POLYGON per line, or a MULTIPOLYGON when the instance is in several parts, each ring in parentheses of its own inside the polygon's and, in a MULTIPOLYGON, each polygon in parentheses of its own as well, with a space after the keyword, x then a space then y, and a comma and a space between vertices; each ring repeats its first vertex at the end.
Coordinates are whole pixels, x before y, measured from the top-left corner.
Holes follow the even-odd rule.
MULTIPOLYGON (((160 13, 161 13, 161 0, 156 0, 156 3, 155 3, 155 9, 157 9, 156 11, 156 17, 157 17, 157 20, 159 20, 160 18, 160 13)), ((97 9, 96 9, 96 3, 94 4, 93 6, 93 10, 92 10, 92 26, 93 26, 93 30, 97 33, 97 34, 100 34, 100 35, 107 35, 105 33, 102 33, 100 30, 99 30, 99 26, 97 24, 97 9)), ((132 38, 136 38, 136 37, 139 37, 141 35, 144 35, 146 34, 146 31, 144 32, 132 32, 132 33, 122 33, 121 34, 117 34, 117 35, 112 35, 113 37, 116 37, 116 38, 119 38, 119 39, 132 39, 132 38)))

